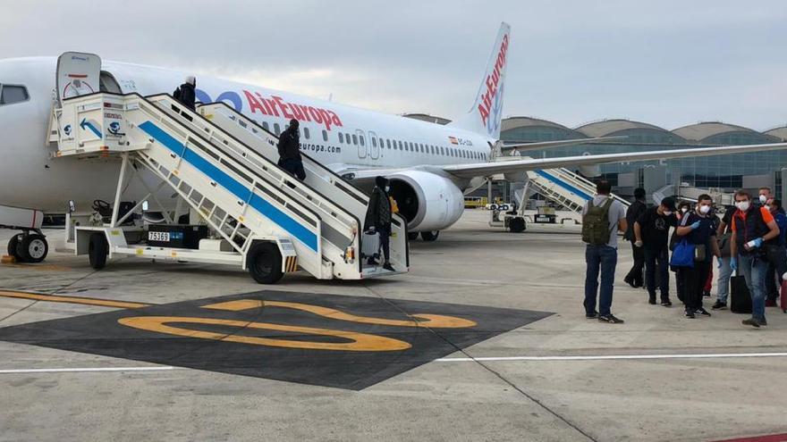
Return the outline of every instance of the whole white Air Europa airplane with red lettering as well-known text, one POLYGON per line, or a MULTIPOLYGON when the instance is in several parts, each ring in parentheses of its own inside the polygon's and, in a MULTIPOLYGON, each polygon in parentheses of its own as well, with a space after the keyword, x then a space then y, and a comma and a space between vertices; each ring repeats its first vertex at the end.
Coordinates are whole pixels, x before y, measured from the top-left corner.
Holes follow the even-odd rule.
MULTIPOLYGON (((526 171, 550 168, 787 148, 782 143, 495 161, 495 150, 517 152, 588 142, 500 144, 510 43, 510 27, 502 23, 470 111, 445 126, 207 77, 197 79, 197 99, 229 104, 275 135, 292 118, 299 120, 304 153, 360 187, 377 175, 386 176, 409 231, 421 232, 427 240, 434 240, 440 230, 459 220, 465 190, 495 174, 524 180, 526 171)), ((46 244, 38 229, 42 214, 64 213, 70 201, 81 209, 95 199, 111 201, 117 180, 116 169, 100 161, 53 159, 49 154, 47 123, 61 92, 55 89, 56 63, 57 57, 0 60, 0 205, 13 208, 0 211, 0 227, 21 229, 38 246, 46 244)), ((186 75, 105 61, 99 90, 161 94, 171 92, 186 75)), ((79 78, 71 79, 66 88, 63 97, 96 92, 79 78)), ((130 188, 128 195, 141 198, 146 192, 130 188)))

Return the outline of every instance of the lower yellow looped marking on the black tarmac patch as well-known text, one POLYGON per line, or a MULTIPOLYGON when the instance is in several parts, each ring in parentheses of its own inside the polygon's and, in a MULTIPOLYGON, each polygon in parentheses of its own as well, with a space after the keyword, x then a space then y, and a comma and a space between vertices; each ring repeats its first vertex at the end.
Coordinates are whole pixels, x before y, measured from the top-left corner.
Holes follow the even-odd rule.
POLYGON ((187 316, 136 316, 132 318, 121 318, 121 324, 149 331, 157 331, 170 335, 183 336, 186 338, 213 339, 225 342, 239 342, 241 344, 251 344, 255 346, 279 346, 286 348, 303 348, 308 350, 344 350, 353 352, 390 352, 395 350, 407 350, 410 344, 399 339, 385 338, 377 335, 368 335, 353 331, 315 329, 312 327, 296 327, 290 325, 271 324, 267 322, 233 321, 214 318, 194 318, 187 316), (289 331, 293 333, 303 333, 307 335, 333 336, 335 338, 349 339, 351 342, 309 342, 291 339, 277 338, 258 338, 253 336, 227 335, 226 333, 216 333, 213 331, 202 331, 195 329, 182 329, 165 325, 169 322, 213 324, 241 329, 269 329, 277 331, 289 331))

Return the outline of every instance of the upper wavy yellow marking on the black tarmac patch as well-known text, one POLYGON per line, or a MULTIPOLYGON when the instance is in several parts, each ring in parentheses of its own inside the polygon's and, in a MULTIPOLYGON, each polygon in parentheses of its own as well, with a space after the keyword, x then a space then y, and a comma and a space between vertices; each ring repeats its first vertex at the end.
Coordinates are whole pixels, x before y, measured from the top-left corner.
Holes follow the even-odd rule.
POLYGON ((393 325, 396 327, 429 327, 434 329, 465 329, 475 327, 477 323, 454 316, 444 316, 442 314, 419 313, 412 314, 413 318, 422 321, 404 321, 404 320, 389 320, 383 318, 371 318, 368 316, 356 316, 351 313, 344 313, 340 310, 333 308, 322 307, 319 305, 300 304, 300 303, 286 303, 281 301, 263 301, 259 299, 239 299, 237 301, 228 301, 225 303, 203 305, 202 308, 210 308, 216 310, 229 310, 232 312, 239 312, 241 310, 249 310, 252 308, 260 307, 283 307, 301 310, 324 316, 329 319, 337 321, 350 321, 360 322, 363 324, 377 324, 377 325, 393 325))

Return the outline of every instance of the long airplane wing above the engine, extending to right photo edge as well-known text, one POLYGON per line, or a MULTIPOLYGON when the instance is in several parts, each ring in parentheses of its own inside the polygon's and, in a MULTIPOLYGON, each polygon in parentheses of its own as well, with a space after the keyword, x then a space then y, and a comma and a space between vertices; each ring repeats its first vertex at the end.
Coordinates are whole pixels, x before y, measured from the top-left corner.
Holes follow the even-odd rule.
POLYGON ((712 156, 724 154, 744 154, 768 150, 787 149, 787 143, 749 146, 699 147, 695 149, 657 150, 650 152, 631 152, 622 154, 597 154, 562 156, 554 158, 522 159, 496 163, 470 163, 437 166, 459 178, 475 178, 496 173, 515 171, 537 171, 559 167, 575 167, 602 163, 628 163, 644 160, 668 160, 671 158, 712 156))

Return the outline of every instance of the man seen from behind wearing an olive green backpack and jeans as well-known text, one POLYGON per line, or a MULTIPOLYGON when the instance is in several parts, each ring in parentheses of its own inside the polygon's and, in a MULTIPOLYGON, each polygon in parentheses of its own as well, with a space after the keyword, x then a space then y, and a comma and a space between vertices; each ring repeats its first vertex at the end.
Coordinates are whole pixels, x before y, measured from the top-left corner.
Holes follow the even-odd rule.
POLYGON ((626 231, 626 208, 609 194, 612 185, 606 179, 596 184, 597 195, 582 208, 582 241, 585 248, 585 317, 598 321, 620 324, 614 317, 612 293, 614 271, 618 263, 618 230, 626 231), (601 273, 601 291, 598 290, 598 274, 601 273), (598 298, 598 299, 597 299, 598 298), (598 304, 598 311, 596 311, 598 304))

